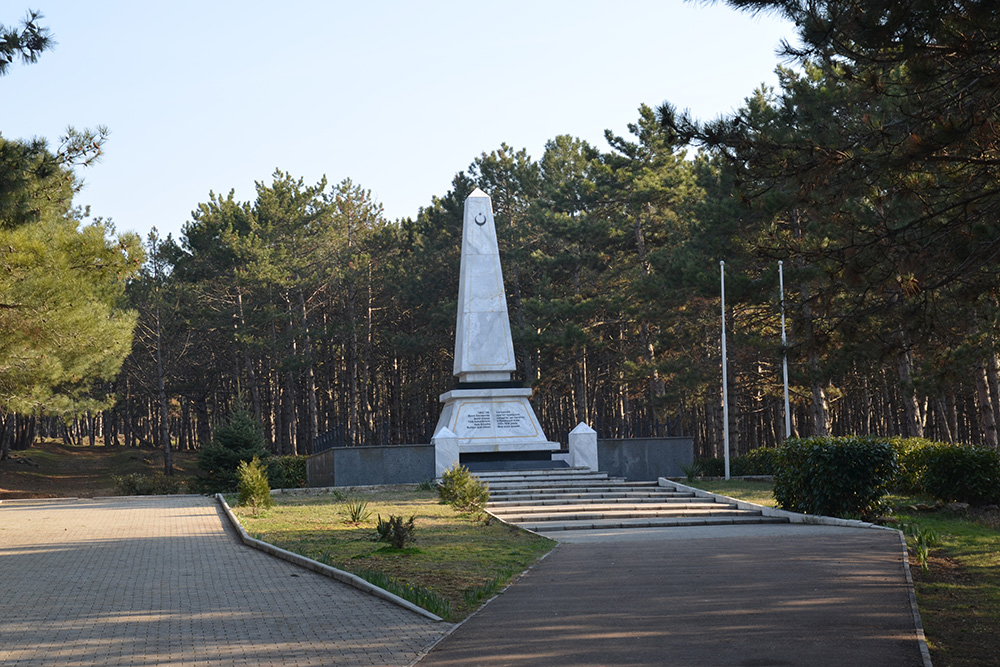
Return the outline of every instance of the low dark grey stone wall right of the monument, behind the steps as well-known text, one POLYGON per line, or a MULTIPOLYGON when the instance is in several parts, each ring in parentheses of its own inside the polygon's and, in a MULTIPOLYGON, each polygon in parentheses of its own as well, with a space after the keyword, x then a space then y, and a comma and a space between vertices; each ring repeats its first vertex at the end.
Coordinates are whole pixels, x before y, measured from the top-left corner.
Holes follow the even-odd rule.
POLYGON ((694 462, 692 438, 598 438, 597 467, 613 477, 655 481, 683 477, 694 462))

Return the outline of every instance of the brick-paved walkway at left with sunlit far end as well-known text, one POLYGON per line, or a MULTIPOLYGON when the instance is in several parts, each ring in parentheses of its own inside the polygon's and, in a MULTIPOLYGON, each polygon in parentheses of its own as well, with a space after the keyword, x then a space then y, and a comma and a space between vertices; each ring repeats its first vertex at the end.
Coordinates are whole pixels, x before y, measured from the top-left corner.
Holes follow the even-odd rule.
POLYGON ((5 667, 405 666, 451 627, 238 544, 203 497, 0 503, 0 568, 5 667))

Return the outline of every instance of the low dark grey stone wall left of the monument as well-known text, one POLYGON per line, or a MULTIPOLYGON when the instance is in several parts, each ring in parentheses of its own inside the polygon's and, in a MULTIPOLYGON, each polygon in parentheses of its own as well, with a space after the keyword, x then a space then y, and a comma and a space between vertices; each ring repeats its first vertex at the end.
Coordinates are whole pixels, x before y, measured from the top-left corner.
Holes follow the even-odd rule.
POLYGON ((309 486, 419 484, 434 477, 434 445, 334 447, 306 459, 309 486))

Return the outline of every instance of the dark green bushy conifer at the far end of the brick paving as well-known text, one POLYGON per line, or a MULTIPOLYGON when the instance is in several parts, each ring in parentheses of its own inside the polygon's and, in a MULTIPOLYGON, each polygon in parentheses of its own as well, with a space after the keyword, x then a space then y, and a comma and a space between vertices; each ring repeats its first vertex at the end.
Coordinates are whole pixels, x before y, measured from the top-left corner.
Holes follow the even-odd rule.
POLYGON ((198 451, 198 467, 205 473, 203 490, 207 493, 232 491, 238 479, 236 469, 254 457, 266 460, 264 432, 245 410, 236 410, 226 423, 212 432, 212 443, 198 451))

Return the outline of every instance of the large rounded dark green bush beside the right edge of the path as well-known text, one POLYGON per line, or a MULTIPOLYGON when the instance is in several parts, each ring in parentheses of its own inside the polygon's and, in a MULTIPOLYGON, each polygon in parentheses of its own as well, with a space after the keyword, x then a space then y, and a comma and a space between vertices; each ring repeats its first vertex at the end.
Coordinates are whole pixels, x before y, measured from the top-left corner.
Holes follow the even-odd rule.
POLYGON ((774 497, 793 512, 868 518, 896 476, 885 439, 792 438, 775 452, 774 497))

